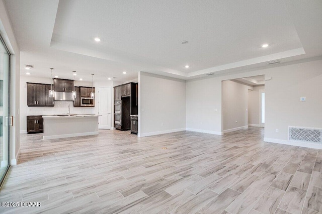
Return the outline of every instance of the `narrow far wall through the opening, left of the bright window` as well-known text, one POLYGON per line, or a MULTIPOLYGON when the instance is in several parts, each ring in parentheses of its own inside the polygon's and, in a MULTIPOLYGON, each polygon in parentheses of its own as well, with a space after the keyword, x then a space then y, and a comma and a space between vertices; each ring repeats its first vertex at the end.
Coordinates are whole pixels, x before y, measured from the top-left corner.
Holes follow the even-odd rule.
POLYGON ((260 90, 265 89, 265 86, 254 86, 253 90, 248 92, 248 125, 260 126, 260 90))

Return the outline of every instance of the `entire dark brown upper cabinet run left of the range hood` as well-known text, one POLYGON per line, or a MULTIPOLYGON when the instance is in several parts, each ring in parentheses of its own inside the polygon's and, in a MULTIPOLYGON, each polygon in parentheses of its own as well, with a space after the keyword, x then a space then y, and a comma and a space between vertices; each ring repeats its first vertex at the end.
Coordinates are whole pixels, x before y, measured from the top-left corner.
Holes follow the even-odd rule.
POLYGON ((54 98, 49 97, 50 89, 51 85, 49 84, 27 82, 27 105, 54 106, 54 98))

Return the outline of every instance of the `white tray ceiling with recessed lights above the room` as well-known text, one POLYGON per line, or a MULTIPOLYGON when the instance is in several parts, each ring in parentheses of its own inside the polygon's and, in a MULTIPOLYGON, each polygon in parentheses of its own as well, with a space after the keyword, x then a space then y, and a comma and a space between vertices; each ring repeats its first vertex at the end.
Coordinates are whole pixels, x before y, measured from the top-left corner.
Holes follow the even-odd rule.
POLYGON ((21 50, 21 75, 28 64, 31 75, 41 77, 50 77, 53 67, 60 78, 72 78, 75 70, 85 81, 91 73, 95 81, 129 81, 139 71, 192 79, 322 55, 319 0, 5 4, 21 50))

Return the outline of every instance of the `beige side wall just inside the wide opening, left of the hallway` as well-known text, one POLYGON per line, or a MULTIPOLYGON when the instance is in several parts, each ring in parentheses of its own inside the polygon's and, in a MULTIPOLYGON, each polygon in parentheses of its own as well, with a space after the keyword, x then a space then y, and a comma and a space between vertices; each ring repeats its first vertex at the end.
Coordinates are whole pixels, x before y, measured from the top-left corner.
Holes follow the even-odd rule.
POLYGON ((222 81, 223 132, 248 127, 248 86, 230 80, 222 81))

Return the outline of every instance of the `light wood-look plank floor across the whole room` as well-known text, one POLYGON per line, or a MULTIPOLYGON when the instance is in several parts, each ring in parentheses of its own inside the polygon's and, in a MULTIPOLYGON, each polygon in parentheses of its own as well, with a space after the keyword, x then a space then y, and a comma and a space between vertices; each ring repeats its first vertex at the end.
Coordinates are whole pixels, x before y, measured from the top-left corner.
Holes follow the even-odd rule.
POLYGON ((264 143, 263 132, 21 135, 0 201, 41 207, 0 213, 322 212, 322 150, 264 143))

